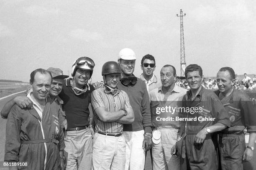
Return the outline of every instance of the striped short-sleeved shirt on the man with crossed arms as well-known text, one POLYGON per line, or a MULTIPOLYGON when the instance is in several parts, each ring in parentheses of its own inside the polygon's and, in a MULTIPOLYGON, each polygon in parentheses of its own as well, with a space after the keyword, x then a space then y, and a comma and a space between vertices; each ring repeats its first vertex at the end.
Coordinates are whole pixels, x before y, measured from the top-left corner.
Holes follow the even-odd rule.
MULTIPOLYGON (((106 92, 106 86, 98 88, 92 92, 91 102, 95 119, 95 129, 104 133, 120 133, 123 132, 123 124, 118 122, 103 122, 97 116, 95 109, 105 107, 107 112, 115 112, 122 108, 132 108, 129 97, 123 90, 117 90, 115 94, 106 92)), ((108 90, 108 89, 107 89, 108 90)))

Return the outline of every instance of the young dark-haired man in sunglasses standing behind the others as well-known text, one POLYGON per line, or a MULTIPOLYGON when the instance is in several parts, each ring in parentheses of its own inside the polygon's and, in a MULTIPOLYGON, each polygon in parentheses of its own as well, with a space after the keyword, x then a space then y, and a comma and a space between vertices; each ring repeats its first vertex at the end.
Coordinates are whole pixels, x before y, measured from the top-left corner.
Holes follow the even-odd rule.
POLYGON ((141 60, 141 70, 143 70, 143 73, 140 79, 145 82, 148 92, 160 86, 157 84, 157 78, 154 75, 155 69, 156 61, 154 56, 150 54, 145 55, 141 60))

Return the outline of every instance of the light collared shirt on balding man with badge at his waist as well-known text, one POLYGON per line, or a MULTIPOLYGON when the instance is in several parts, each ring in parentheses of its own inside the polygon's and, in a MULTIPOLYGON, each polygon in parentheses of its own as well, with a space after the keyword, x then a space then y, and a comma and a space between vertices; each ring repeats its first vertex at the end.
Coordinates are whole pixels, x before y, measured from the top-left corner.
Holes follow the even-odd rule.
POLYGON ((187 89, 174 85, 172 92, 165 100, 162 87, 156 88, 149 92, 151 100, 151 119, 154 127, 161 128, 179 128, 179 121, 175 121, 179 117, 179 107, 182 107, 182 97, 187 93, 187 89), (161 108, 168 108, 162 112, 161 108), (170 109, 169 109, 170 108, 170 109), (173 117, 173 120, 170 120, 173 117), (160 119, 162 118, 162 119, 160 119), (163 119, 164 118, 164 119, 163 119), (166 119, 167 118, 167 119, 166 119))

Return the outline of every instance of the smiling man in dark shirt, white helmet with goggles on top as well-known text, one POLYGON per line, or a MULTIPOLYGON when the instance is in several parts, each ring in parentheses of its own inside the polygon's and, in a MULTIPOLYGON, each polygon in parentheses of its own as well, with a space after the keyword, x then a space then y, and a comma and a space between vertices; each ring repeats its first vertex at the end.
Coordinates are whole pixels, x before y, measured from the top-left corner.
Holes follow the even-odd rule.
POLYGON ((67 152, 67 170, 89 170, 92 168, 92 138, 94 132, 88 117, 91 93, 88 84, 95 66, 89 57, 79 57, 72 65, 72 77, 66 79, 59 97, 63 100, 67 130, 64 149, 67 152))

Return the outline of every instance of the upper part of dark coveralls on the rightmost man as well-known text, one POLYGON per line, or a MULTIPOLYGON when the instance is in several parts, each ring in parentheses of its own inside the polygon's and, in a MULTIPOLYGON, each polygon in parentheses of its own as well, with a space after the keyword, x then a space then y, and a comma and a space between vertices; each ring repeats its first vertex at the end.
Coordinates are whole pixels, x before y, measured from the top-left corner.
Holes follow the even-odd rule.
MULTIPOLYGON (((217 95, 220 91, 215 91, 217 95)), ((253 104, 241 90, 234 89, 230 95, 221 100, 228 112, 231 127, 221 131, 221 133, 236 134, 241 133, 247 127, 248 132, 256 132, 256 112, 253 104)))

